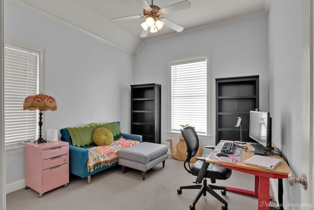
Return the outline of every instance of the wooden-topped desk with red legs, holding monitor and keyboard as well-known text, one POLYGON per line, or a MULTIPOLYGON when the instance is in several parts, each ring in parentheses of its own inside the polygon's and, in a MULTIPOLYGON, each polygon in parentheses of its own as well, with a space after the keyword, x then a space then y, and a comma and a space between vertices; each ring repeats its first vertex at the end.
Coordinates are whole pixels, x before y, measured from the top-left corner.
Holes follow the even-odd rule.
MULTIPOLYGON (((227 141, 221 140, 220 142, 227 141)), ((251 146, 250 142, 243 144, 242 146, 248 147, 248 150, 254 151, 254 148, 251 146)), ((214 150, 212 151, 212 153, 214 150)), ((210 156, 210 154, 209 154, 210 156)), ((282 159, 282 161, 277 165, 274 170, 263 169, 260 167, 252 166, 243 163, 249 157, 254 156, 254 152, 245 152, 244 149, 242 150, 241 154, 241 162, 236 162, 235 164, 225 163, 225 162, 218 162, 216 158, 206 158, 206 162, 219 164, 222 167, 229 168, 236 171, 241 171, 247 174, 255 175, 255 191, 238 189, 233 187, 226 187, 228 191, 240 193, 243 195, 253 196, 259 199, 259 210, 269 210, 269 201, 273 198, 269 196, 269 178, 272 179, 284 179, 288 178, 288 174, 292 173, 291 169, 289 168, 286 161, 279 156, 271 156, 274 158, 282 159)))

